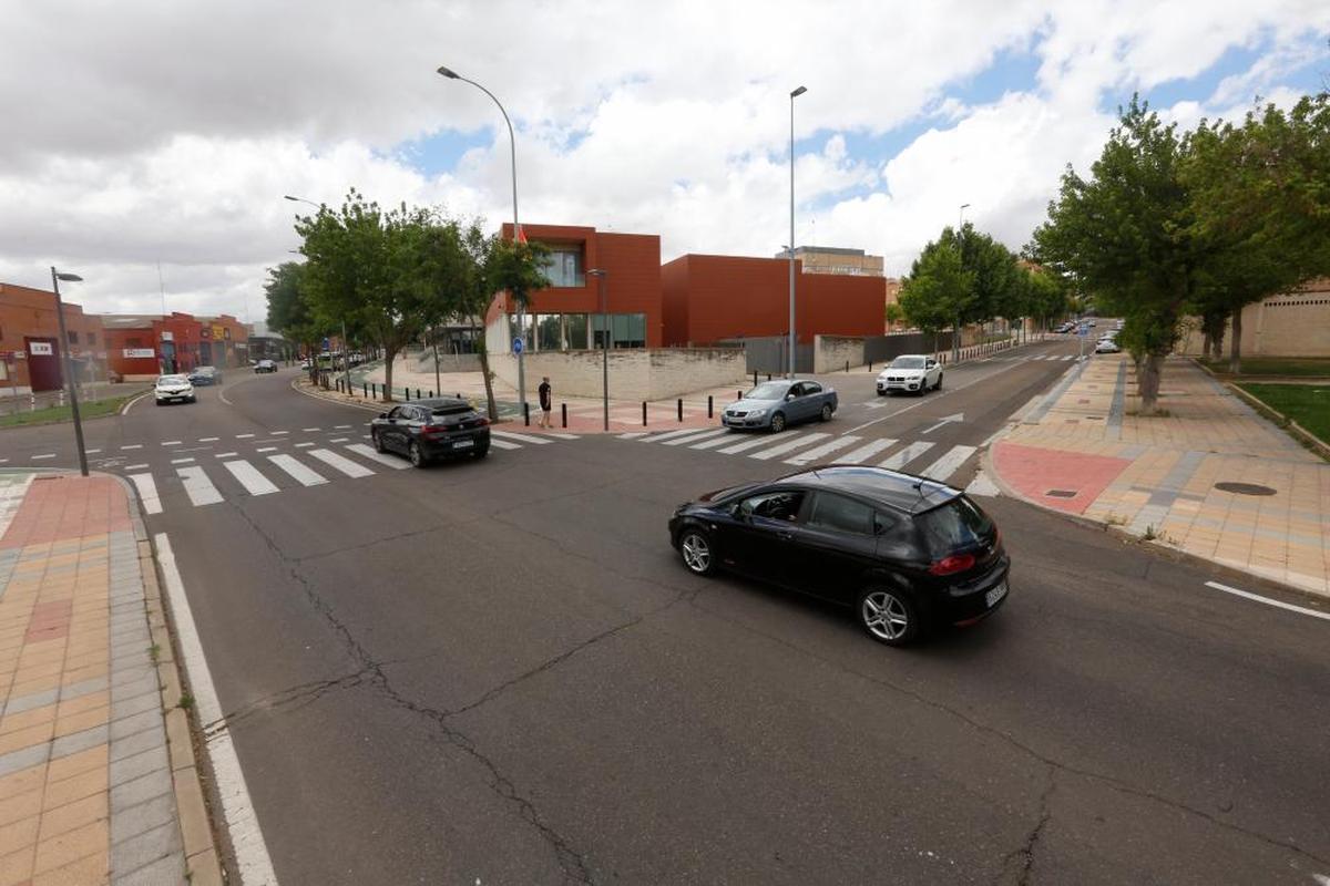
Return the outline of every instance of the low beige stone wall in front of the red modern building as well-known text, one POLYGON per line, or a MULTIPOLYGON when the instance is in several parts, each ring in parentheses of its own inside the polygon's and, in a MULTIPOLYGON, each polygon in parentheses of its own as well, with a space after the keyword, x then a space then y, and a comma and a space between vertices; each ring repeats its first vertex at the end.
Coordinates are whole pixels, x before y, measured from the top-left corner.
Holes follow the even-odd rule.
MULTIPOLYGON (((598 397, 600 351, 528 353, 527 388, 535 391, 549 376, 555 397, 598 397)), ((491 355, 489 367, 509 387, 517 387, 517 359, 491 355)), ((613 400, 666 400, 693 391, 739 384, 745 376, 739 348, 633 348, 609 352, 609 396, 613 400)))

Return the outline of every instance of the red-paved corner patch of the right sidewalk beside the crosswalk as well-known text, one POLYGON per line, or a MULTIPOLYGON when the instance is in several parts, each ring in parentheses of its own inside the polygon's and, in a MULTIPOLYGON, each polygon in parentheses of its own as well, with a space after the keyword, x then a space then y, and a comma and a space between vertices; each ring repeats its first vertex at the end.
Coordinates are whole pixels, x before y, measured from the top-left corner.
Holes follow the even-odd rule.
POLYGON ((1060 449, 1021 446, 998 442, 994 445, 994 468, 1003 482, 1023 498, 1083 514, 1099 494, 1117 480, 1132 464, 1129 458, 1091 456, 1060 449), (1049 490, 1072 491, 1071 498, 1049 495, 1049 490))

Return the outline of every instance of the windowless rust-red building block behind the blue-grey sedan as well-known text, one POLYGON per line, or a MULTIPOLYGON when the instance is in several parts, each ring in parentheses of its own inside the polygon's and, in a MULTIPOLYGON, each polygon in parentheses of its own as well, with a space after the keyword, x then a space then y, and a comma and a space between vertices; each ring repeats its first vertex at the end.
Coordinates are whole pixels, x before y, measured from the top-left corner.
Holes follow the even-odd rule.
MULTIPOLYGON (((681 255, 661 268, 665 344, 704 345, 787 335, 789 259, 681 255)), ((882 335, 880 276, 803 274, 794 262, 795 335, 882 335)))

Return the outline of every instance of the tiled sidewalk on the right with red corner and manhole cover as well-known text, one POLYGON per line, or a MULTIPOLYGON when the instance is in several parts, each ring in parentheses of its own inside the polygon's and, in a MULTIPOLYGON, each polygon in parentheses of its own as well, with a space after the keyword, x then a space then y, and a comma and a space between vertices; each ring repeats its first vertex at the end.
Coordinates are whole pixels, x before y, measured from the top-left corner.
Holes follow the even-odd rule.
POLYGON ((1096 356, 990 452, 1005 491, 1277 582, 1330 595, 1330 464, 1190 360, 1170 357, 1137 417, 1125 355, 1096 356))

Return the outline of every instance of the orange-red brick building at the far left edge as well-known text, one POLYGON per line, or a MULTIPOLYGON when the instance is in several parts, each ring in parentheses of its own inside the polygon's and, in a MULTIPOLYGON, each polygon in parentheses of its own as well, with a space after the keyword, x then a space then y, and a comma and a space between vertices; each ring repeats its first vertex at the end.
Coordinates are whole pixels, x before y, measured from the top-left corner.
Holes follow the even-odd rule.
POLYGON ((69 302, 64 308, 68 341, 61 343, 55 292, 0 283, 0 397, 63 387, 66 349, 80 381, 105 377, 101 320, 69 302))

